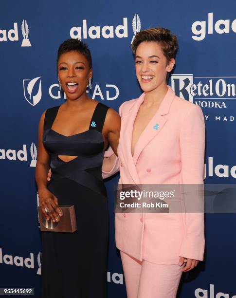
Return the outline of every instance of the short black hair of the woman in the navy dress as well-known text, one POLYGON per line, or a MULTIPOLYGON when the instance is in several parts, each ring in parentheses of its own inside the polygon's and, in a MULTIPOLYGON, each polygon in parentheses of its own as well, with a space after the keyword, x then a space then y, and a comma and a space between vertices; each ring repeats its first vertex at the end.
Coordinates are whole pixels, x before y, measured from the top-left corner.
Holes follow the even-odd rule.
POLYGON ((89 63, 89 68, 92 68, 92 57, 90 49, 88 48, 87 44, 79 39, 70 38, 62 42, 60 44, 58 52, 57 52, 57 60, 56 64, 58 63, 58 60, 62 54, 68 53, 68 52, 78 52, 79 54, 82 54, 85 56, 89 63))

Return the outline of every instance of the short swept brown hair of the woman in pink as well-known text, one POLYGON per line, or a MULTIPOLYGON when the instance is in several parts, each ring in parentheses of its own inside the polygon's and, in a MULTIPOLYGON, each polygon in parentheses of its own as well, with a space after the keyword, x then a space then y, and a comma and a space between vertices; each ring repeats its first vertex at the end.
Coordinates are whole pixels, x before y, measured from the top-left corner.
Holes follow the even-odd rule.
POLYGON ((143 41, 155 41, 160 42, 163 50, 163 54, 167 59, 167 62, 171 58, 175 58, 178 50, 178 41, 177 37, 174 34, 171 34, 170 30, 164 29, 162 27, 149 28, 142 30, 134 37, 132 43, 132 52, 135 55, 136 50, 141 42, 143 41))

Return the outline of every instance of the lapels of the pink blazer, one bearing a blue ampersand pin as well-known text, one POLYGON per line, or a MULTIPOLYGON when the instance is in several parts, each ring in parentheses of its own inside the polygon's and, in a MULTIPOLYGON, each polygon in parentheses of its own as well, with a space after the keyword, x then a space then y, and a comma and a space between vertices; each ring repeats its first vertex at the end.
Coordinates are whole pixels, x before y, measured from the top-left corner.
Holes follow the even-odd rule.
MULTIPOLYGON (((163 98, 163 101, 158 111, 155 113, 155 115, 152 117, 150 122, 147 124, 147 126, 145 127, 145 130, 141 133, 137 141, 137 144, 134 149, 134 155, 133 155, 134 165, 136 165, 139 155, 142 152, 142 150, 145 148, 145 146, 162 130, 167 120, 164 117, 164 115, 169 113, 170 105, 172 103, 174 96, 175 96, 175 93, 168 86, 168 91, 165 94, 165 97, 163 98)), ((132 138, 132 135, 130 138, 132 138)))

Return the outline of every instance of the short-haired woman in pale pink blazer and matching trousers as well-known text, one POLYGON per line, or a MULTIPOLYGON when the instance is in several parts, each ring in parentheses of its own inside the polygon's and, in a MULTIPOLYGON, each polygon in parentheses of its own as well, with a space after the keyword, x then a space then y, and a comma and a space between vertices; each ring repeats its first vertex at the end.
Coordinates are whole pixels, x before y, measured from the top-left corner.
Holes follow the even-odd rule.
MULTIPOLYGON (((103 176, 120 168, 119 184, 203 184, 205 126, 201 109, 175 95, 167 76, 176 36, 163 28, 136 35, 135 69, 144 93, 124 102, 118 159, 106 152, 103 176)), ((128 298, 174 298, 182 272, 203 260, 202 213, 115 216, 128 298)))

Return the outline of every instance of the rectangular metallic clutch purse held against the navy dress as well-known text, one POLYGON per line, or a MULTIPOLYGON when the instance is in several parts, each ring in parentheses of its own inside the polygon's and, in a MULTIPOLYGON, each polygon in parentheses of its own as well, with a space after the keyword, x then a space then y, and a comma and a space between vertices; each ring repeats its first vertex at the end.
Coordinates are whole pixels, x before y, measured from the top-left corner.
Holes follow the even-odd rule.
POLYGON ((38 219, 40 223, 40 230, 43 232, 66 232, 73 233, 77 230, 74 205, 61 205, 62 217, 60 222, 47 221, 44 217, 41 208, 38 206, 38 219))

